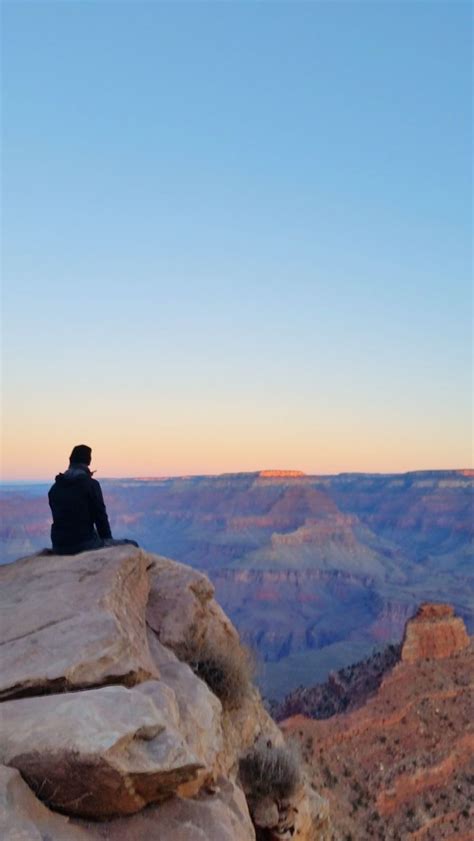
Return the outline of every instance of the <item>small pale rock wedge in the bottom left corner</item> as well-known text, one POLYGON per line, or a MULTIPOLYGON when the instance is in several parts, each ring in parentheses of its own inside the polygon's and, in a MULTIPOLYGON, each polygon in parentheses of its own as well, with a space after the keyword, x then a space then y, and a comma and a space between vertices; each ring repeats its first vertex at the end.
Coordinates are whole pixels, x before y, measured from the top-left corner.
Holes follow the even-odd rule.
POLYGON ((88 841, 89 834, 50 812, 14 768, 0 767, 2 841, 88 841))

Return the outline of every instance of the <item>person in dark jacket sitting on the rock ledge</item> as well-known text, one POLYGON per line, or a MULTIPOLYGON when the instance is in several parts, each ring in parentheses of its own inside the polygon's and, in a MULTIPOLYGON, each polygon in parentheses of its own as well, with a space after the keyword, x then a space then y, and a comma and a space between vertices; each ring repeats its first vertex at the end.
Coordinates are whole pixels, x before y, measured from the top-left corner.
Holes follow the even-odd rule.
POLYGON ((89 469, 91 458, 92 449, 78 444, 69 457, 69 469, 58 473, 49 489, 55 555, 77 555, 104 546, 138 546, 134 540, 113 539, 102 489, 89 469))

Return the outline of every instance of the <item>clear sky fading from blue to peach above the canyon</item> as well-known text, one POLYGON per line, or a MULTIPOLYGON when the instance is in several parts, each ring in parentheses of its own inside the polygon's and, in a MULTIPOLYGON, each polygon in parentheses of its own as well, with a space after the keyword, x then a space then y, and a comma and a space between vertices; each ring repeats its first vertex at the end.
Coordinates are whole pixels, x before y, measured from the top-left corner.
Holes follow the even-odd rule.
POLYGON ((469 3, 2 18, 4 480, 472 465, 469 3))

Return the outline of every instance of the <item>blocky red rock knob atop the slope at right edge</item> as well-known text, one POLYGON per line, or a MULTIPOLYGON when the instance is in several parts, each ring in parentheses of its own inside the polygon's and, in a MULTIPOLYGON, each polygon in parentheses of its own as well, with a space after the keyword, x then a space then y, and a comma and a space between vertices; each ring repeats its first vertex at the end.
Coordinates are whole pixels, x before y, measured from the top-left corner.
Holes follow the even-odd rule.
POLYGON ((447 604, 422 604, 405 628, 401 659, 406 663, 433 658, 441 660, 467 648, 464 622, 447 604))

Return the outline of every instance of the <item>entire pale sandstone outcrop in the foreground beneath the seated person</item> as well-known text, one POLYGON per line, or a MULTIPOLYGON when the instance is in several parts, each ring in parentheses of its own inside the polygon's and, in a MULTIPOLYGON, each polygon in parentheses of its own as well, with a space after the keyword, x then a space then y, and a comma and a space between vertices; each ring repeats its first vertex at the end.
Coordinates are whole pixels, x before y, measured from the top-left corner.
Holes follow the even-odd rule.
MULTIPOLYGON (((250 683, 221 701, 180 659, 239 651, 208 579, 129 547, 34 556, 0 576, 2 839, 254 841, 239 761, 283 740, 250 683)), ((284 815, 274 799, 268 838, 285 837, 288 812, 285 831, 329 839, 304 776, 295 798, 284 815)))

